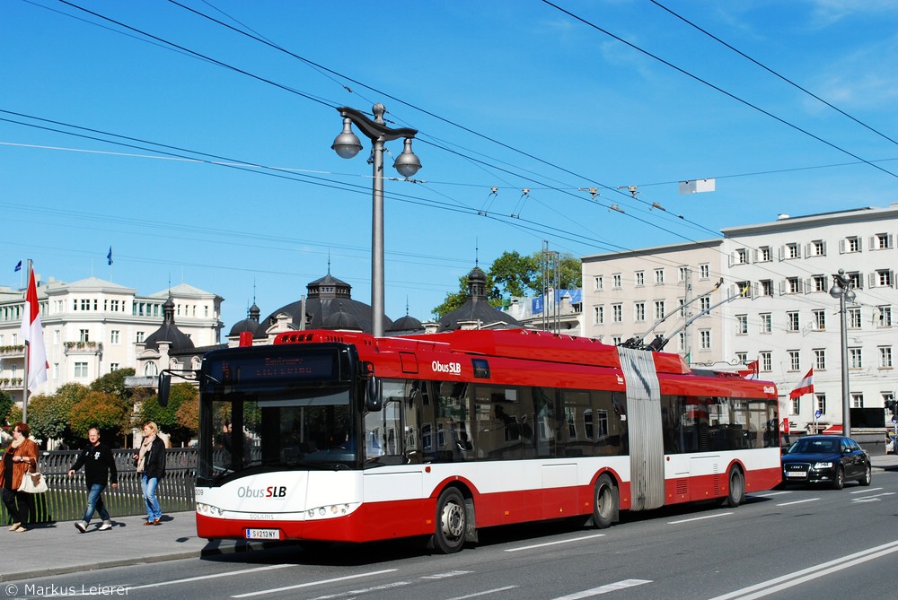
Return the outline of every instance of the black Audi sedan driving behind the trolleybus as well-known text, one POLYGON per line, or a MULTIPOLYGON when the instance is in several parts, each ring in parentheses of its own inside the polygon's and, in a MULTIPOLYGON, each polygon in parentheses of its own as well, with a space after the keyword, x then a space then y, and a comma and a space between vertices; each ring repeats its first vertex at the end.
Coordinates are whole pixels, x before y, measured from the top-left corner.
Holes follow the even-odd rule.
POLYGON ((854 439, 838 435, 806 436, 782 455, 783 484, 823 483, 841 490, 846 480, 873 481, 870 456, 854 439))

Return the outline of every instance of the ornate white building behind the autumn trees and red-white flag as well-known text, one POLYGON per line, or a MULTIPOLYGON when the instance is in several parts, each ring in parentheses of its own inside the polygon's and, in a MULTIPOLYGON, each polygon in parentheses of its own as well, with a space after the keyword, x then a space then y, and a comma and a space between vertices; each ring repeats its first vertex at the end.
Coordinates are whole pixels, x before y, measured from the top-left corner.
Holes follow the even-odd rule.
MULTIPOLYGON (((223 299, 187 284, 141 296, 133 288, 90 277, 74 283, 51 279, 37 290, 48 370, 47 383, 35 393, 53 394, 70 382, 88 385, 119 369, 134 368, 140 375, 137 354, 145 338, 163 324, 163 304, 169 298, 178 328, 194 345, 220 341, 223 299)), ((0 288, 0 389, 20 403, 23 304, 24 291, 0 288)))

